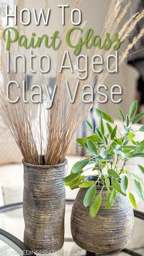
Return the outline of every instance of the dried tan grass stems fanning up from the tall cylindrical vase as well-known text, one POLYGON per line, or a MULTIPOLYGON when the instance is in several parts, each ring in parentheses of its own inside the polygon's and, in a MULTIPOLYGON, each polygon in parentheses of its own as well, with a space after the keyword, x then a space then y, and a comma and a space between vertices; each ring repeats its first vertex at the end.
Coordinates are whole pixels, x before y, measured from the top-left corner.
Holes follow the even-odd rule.
MULTIPOLYGON (((73 7, 79 7, 82 0, 76 0, 73 7)), ((48 0, 46 0, 46 8, 48 8, 48 0)), ((125 24, 122 24, 123 18, 129 10, 130 2, 121 8, 123 1, 112 0, 110 2, 109 17, 106 20, 104 26, 104 32, 112 32, 115 34, 117 32, 117 27, 120 26, 120 38, 121 40, 128 37, 132 29, 141 18, 143 18, 143 11, 141 13, 135 13, 130 17, 125 24), (113 10, 115 15, 113 15, 113 10)), ((82 26, 85 26, 87 21, 84 21, 82 26)), ((65 38, 65 35, 70 29, 70 16, 62 32, 62 39, 65 38)), ((127 46, 125 51, 119 57, 119 64, 121 64, 124 59, 129 54, 129 50, 137 43, 137 41, 143 36, 144 29, 142 29, 132 41, 131 44, 127 46)), ((79 34, 75 34, 73 37, 73 43, 77 42, 79 34)), ((73 49, 68 48, 63 40, 62 47, 59 50, 57 57, 57 70, 56 70, 56 84, 57 84, 57 94, 52 104, 51 109, 48 111, 44 110, 44 105, 48 103, 48 98, 45 98, 45 102, 41 104, 38 108, 38 126, 35 124, 35 120, 32 117, 32 108, 28 104, 24 104, 22 101, 19 101, 18 104, 8 103, 5 96, 5 84, 10 79, 18 80, 15 76, 18 74, 13 74, 13 70, 10 71, 10 74, 7 74, 5 70, 5 60, 4 56, 1 55, 1 95, 0 103, 4 111, 4 120, 7 126, 9 127, 13 137, 15 138, 18 147, 23 154, 24 161, 31 164, 42 164, 40 155, 45 155, 45 164, 59 164, 62 163, 65 159, 68 147, 70 145, 71 139, 78 126, 87 116, 88 111, 92 108, 93 104, 85 104, 81 100, 81 90, 77 90, 77 96, 74 104, 70 103, 68 95, 66 93, 66 88, 64 86, 65 80, 70 81, 70 71, 63 70, 62 73, 59 73, 60 60, 62 59, 63 51, 68 49, 70 55, 72 56, 72 62, 75 61, 73 56, 73 49), (43 114, 42 114, 43 113, 43 114), (43 126, 43 120, 45 125, 43 126), (38 138, 38 139, 37 139, 38 138), (38 142, 37 142, 38 141, 38 142)), ((4 51, 4 45, 1 46, 1 51, 4 51)), ((109 54, 112 53, 112 49, 109 51, 104 51, 104 49, 96 49, 94 54, 101 54, 105 59, 109 54)), ((87 51, 88 56, 91 56, 92 52, 87 51)), ((104 70, 103 73, 99 74, 99 81, 104 82, 109 73, 104 70)), ((22 79, 19 77, 19 80, 22 79)), ((88 79, 86 81, 81 81, 81 87, 84 84, 92 84, 93 90, 95 92, 95 102, 96 102, 96 74, 92 72, 90 67, 88 70, 88 79)), ((45 78, 41 76, 41 84, 45 81, 45 78)), ((74 69, 74 78, 70 81, 71 93, 74 92, 77 81, 77 70, 74 69)), ((17 91, 13 90, 11 97, 15 97, 17 91)), ((95 103, 94 102, 94 103, 95 103)))

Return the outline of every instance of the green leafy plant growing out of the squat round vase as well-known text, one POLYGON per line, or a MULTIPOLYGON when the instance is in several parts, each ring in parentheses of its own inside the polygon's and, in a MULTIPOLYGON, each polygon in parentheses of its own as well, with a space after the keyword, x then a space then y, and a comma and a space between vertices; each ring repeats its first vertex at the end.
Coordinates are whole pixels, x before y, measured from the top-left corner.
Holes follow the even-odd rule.
MULTIPOLYGON (((95 111, 99 116, 99 127, 93 131, 92 124, 85 120, 92 135, 77 139, 79 145, 87 149, 88 155, 74 164, 71 174, 63 179, 65 185, 70 186, 71 189, 87 188, 84 206, 89 207, 90 218, 95 218, 98 213, 103 200, 104 187, 109 192, 106 200, 107 210, 115 202, 117 193, 128 196, 132 207, 137 208, 135 197, 129 191, 130 177, 134 181, 137 195, 144 200, 142 188, 144 181, 139 176, 139 172, 144 175, 144 166, 132 162, 135 157, 144 157, 144 140, 136 141, 135 133, 137 131, 134 131, 134 124, 142 119, 144 112, 136 115, 137 101, 131 104, 127 115, 124 115, 117 106, 118 115, 123 122, 123 130, 120 131, 111 115, 98 108, 95 111), (104 122, 106 122, 105 125, 104 122), (137 174, 127 169, 129 164, 137 166, 137 174), (92 170, 92 177, 84 175, 88 169, 92 170), (96 186, 101 186, 101 191, 98 193, 96 186)), ((139 131, 144 132, 144 126, 141 126, 139 131)))

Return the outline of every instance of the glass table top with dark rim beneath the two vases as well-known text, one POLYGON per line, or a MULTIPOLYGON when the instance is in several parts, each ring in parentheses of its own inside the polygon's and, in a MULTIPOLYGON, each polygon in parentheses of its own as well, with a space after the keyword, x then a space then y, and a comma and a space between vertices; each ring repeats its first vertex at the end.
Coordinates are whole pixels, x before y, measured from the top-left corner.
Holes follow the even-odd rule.
MULTIPOLYGON (((77 246, 74 243, 73 238, 71 236, 71 229, 70 229, 70 216, 71 216, 71 208, 73 203, 68 202, 66 205, 65 211, 65 243, 63 244, 62 249, 59 252, 54 253, 54 255, 67 255, 67 256, 82 256, 87 255, 87 252, 77 246)), ((133 255, 144 255, 144 235, 143 229, 144 228, 144 221, 142 219, 135 218, 135 225, 134 225, 134 234, 132 237, 131 244, 127 247, 134 251, 136 254, 133 255)), ((23 233, 24 233, 24 220, 23 220, 23 209, 21 205, 15 205, 13 208, 7 208, 7 210, 2 212, 0 211, 0 229, 9 232, 20 241, 23 241, 23 233), (16 209, 16 207, 19 207, 16 209)), ((21 247, 18 246, 11 239, 5 237, 0 232, 0 255, 23 255, 23 251, 21 247)), ((26 254, 25 254, 26 255, 26 254)), ((91 254, 92 255, 92 254, 91 254)), ((125 252, 119 252, 118 256, 126 256, 125 252)))

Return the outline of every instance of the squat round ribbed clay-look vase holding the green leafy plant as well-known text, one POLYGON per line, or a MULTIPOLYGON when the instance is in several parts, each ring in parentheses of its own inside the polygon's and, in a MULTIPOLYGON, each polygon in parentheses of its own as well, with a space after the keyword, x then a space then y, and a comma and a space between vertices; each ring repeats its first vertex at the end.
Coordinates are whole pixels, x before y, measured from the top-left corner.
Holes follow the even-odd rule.
MULTIPOLYGON (((101 186, 96 186, 97 194, 101 186)), ((134 211, 127 197, 117 192, 113 206, 106 210, 107 189, 103 189, 102 204, 94 219, 90 219, 89 207, 83 200, 87 188, 79 189, 71 213, 71 233, 73 240, 82 249, 98 254, 110 254, 124 249, 132 238, 134 211)))

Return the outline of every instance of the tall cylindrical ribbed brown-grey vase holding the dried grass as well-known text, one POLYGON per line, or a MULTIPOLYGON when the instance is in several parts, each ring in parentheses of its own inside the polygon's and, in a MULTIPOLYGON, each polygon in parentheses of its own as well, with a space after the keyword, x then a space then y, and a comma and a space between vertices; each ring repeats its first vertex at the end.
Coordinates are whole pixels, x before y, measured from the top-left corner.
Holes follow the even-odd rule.
POLYGON ((24 165, 24 243, 32 251, 58 251, 64 241, 67 161, 54 166, 24 165))

